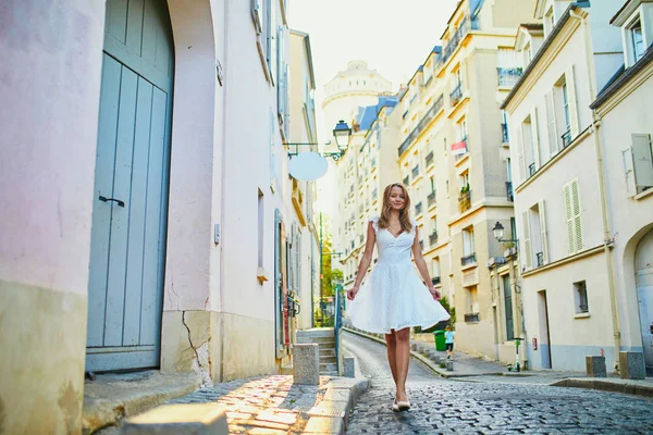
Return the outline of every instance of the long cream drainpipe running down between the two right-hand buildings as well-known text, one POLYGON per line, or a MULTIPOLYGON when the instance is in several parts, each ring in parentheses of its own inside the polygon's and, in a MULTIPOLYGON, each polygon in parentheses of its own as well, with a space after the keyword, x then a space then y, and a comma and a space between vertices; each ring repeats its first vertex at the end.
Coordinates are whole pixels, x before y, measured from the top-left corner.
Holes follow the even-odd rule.
MULTIPOLYGON (((586 18, 578 14, 577 11, 571 8, 569 11, 571 17, 580 21, 580 25, 582 26, 586 37, 586 57, 588 69, 592 72, 590 74, 590 79, 588 80, 588 88, 590 92, 590 98, 594 98, 596 96, 596 84, 594 83, 595 76, 593 74, 594 71, 594 62, 592 59, 592 47, 591 47, 591 34, 589 26, 587 25, 586 18)), ((608 287, 609 287, 609 296, 611 296, 611 311, 612 311, 612 321, 613 321, 613 334, 615 340, 615 362, 614 369, 616 372, 619 371, 619 351, 621 349, 621 333, 619 328, 619 310, 617 306, 617 290, 615 285, 615 270, 612 258, 612 245, 614 240, 611 237, 609 229, 609 210, 607 207, 607 192, 605 188, 605 174, 604 174, 604 163, 603 163, 603 151, 601 145, 601 137, 599 135, 599 128, 601 127, 601 116, 596 113, 595 110, 592 110, 592 139, 594 141, 594 150, 596 152, 596 165, 599 169, 599 191, 601 196, 601 217, 603 222, 603 252, 605 258, 605 265, 607 269, 608 275, 608 287)))

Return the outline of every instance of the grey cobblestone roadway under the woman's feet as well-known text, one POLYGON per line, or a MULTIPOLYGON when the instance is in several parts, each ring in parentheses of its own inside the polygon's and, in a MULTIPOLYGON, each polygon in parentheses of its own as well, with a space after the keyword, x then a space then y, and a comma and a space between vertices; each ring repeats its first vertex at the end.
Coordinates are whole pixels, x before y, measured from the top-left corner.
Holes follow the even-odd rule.
POLYGON ((544 385, 443 380, 411 360, 412 408, 391 411, 394 383, 385 347, 344 334, 370 390, 352 412, 347 434, 644 434, 653 433, 653 400, 544 385))

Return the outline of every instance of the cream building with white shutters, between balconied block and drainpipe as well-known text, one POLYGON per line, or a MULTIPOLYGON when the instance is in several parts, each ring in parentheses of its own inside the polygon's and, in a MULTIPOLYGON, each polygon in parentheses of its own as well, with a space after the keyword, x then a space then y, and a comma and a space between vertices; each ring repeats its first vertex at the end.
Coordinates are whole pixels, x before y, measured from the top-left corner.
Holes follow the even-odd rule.
POLYGON ((538 0, 518 29, 509 116, 529 365, 584 370, 620 348, 599 126, 590 103, 624 62, 619 4, 538 0))

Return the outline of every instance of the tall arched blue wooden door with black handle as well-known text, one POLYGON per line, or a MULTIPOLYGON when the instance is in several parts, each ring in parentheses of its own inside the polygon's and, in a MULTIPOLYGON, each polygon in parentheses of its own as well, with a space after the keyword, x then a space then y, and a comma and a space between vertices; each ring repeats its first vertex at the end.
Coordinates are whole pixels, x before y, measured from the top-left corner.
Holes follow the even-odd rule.
POLYGON ((86 371, 159 365, 173 46, 164 0, 108 0, 86 371))

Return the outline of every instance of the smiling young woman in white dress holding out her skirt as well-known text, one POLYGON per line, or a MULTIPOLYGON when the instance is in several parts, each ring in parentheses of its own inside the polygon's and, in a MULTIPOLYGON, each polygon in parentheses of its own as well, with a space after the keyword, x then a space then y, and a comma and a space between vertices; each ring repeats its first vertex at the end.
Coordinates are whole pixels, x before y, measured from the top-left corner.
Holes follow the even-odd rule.
POLYGON ((410 361, 410 326, 428 328, 449 314, 440 304, 440 293, 433 287, 422 257, 416 222, 408 211, 410 198, 404 185, 395 183, 383 191, 380 216, 369 220, 365 253, 358 265, 354 287, 347 291, 352 302, 347 315, 352 324, 372 333, 385 334, 387 361, 396 385, 393 411, 410 408, 406 395, 406 377, 410 361), (372 261, 374 244, 379 261, 368 281, 360 287, 372 261), (427 286, 412 269, 410 251, 427 286))

